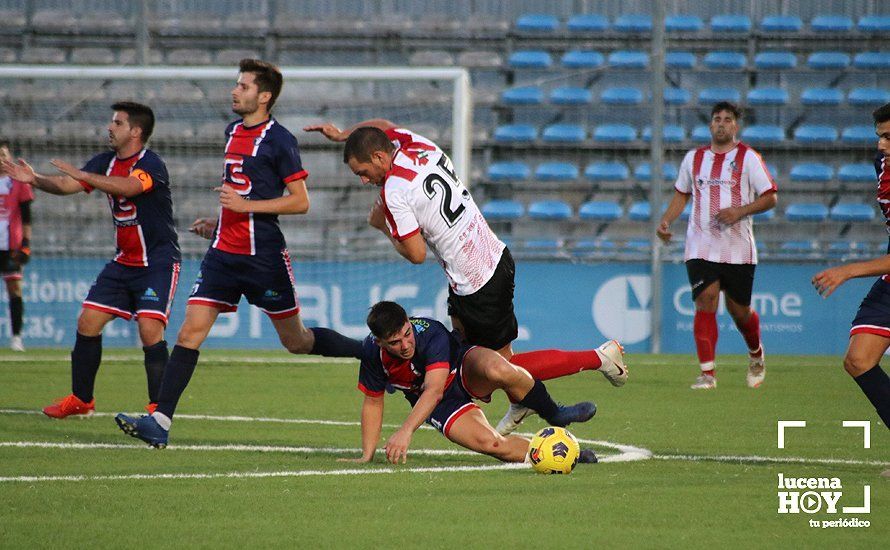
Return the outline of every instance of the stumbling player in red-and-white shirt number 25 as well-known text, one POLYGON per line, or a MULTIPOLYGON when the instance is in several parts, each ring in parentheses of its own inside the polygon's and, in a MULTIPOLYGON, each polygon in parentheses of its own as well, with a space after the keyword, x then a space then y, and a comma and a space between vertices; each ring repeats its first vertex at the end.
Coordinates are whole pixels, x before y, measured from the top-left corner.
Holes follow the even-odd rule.
MULTIPOLYGON (((381 188, 368 222, 389 238, 399 254, 420 264, 427 246, 432 249, 448 279, 452 325, 468 343, 497 351, 537 380, 595 369, 612 385, 624 385, 627 370, 615 340, 595 350, 513 353, 518 335, 513 257, 438 145, 384 119, 343 131, 330 123, 304 130, 346 142, 343 162, 362 183, 381 188)), ((498 423, 498 432, 511 433, 531 412, 513 403, 498 423)))

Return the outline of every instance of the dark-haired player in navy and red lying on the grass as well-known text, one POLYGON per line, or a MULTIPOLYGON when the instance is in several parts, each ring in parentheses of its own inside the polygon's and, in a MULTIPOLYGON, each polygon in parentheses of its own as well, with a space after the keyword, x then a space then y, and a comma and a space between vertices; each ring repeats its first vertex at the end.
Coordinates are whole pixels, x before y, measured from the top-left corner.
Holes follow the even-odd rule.
MULTIPOLYGON (((411 412, 384 446, 393 464, 404 463, 414 432, 424 421, 448 439, 472 451, 504 462, 522 462, 529 440, 502 436, 473 402, 491 400, 495 390, 537 412, 548 424, 566 426, 586 422, 596 405, 581 402, 557 405, 540 380, 496 351, 465 344, 459 335, 425 317, 408 318, 395 302, 378 302, 368 314, 371 334, 362 345, 358 388, 362 404, 362 456, 370 462, 383 425, 383 397, 387 385, 401 390, 411 412)), ((581 452, 579 462, 596 462, 593 451, 581 452)))

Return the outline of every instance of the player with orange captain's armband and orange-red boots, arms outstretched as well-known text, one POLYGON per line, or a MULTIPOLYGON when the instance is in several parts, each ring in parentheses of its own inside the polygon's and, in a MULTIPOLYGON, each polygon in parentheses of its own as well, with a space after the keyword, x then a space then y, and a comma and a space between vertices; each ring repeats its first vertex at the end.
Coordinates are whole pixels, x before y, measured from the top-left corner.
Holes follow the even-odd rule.
POLYGON ((54 195, 103 191, 115 226, 117 253, 99 273, 77 319, 71 395, 43 409, 53 418, 91 414, 95 409, 93 388, 102 359, 102 329, 115 317, 136 318, 145 352, 148 410, 157 403, 167 363, 164 329, 180 262, 170 180, 161 157, 145 147, 155 124, 152 110, 128 101, 115 103, 111 109, 111 151, 99 153, 82 170, 53 160, 64 175, 45 176, 21 159, 15 165, 4 163, 14 179, 54 195))

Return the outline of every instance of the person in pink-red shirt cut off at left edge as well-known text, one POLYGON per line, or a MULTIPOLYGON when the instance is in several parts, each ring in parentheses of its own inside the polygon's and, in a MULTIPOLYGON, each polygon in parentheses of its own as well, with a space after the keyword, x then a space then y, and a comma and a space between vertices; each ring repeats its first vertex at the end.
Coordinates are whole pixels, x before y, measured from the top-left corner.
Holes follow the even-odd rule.
POLYGON ((6 281, 9 295, 9 324, 12 351, 25 351, 22 322, 25 306, 22 301, 22 268, 31 258, 31 186, 12 179, 2 166, 12 162, 9 143, 0 140, 0 275, 6 281))

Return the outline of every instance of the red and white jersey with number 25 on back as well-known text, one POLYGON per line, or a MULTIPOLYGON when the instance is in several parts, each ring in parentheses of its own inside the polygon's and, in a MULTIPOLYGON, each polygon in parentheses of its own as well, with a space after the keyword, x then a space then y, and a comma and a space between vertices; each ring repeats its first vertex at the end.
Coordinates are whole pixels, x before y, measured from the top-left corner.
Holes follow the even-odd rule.
POLYGON ((398 148, 380 197, 392 236, 423 236, 455 294, 482 288, 506 245, 488 227, 451 160, 432 141, 402 128, 387 130, 398 148))

